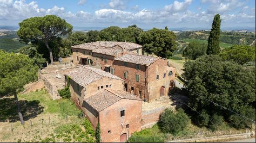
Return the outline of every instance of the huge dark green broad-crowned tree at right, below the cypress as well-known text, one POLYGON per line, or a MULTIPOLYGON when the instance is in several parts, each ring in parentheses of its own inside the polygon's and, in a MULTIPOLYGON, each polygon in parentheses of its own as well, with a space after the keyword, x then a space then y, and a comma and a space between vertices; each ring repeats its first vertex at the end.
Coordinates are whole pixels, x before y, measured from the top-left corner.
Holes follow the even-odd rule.
MULTIPOLYGON (((246 106, 251 109, 248 114, 255 116, 255 110, 252 110, 255 109, 256 97, 255 68, 245 68, 217 55, 204 55, 195 61, 186 61, 183 67, 182 77, 187 81, 185 87, 193 92, 189 92, 189 105, 196 111, 204 109, 210 116, 216 113, 228 119, 234 113, 216 104, 242 115, 244 113, 240 109, 246 106)), ((247 117, 250 117, 248 114, 247 117)), ((249 120, 243 118, 243 122, 246 121, 249 120)))

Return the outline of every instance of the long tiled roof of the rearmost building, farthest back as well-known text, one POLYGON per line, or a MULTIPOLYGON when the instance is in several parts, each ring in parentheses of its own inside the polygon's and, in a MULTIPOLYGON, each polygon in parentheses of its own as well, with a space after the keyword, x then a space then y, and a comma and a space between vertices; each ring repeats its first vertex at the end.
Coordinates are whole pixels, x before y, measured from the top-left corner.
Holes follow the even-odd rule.
POLYGON ((116 45, 119 45, 121 48, 126 50, 136 50, 142 47, 139 44, 135 44, 131 42, 113 42, 113 41, 97 41, 97 42, 74 45, 71 47, 79 48, 79 49, 94 50, 96 48, 102 48, 102 47, 112 48, 112 47, 115 47, 116 45))

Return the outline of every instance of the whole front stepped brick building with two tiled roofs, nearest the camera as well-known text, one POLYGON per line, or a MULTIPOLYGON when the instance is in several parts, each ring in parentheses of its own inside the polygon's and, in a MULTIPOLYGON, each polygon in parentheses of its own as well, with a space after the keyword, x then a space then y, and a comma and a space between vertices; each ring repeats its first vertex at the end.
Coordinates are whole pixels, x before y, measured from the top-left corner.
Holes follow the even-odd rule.
POLYGON ((68 72, 71 99, 94 128, 100 123, 102 142, 124 142, 141 130, 141 99, 124 91, 121 78, 91 67, 68 72))

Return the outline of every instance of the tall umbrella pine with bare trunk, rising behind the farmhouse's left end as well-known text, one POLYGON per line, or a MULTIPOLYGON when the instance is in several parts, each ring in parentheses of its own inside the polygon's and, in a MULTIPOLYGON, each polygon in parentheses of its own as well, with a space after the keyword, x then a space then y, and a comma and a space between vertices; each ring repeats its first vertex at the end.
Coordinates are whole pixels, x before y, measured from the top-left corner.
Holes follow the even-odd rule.
POLYGON ((49 51, 51 64, 53 61, 53 49, 50 48, 49 42, 61 35, 67 35, 72 31, 72 25, 64 19, 55 15, 46 15, 44 17, 33 17, 25 19, 19 23, 20 29, 17 32, 20 39, 24 42, 41 41, 49 51))

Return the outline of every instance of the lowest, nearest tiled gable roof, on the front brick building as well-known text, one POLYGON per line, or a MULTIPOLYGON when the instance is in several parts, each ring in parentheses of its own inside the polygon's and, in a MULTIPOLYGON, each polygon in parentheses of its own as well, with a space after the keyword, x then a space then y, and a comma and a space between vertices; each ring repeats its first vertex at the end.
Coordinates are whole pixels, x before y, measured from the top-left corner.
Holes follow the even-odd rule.
POLYGON ((104 89, 84 98, 96 111, 101 112, 121 99, 141 100, 136 95, 122 90, 104 89))

